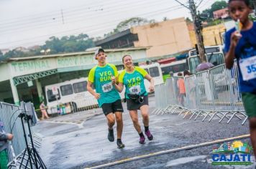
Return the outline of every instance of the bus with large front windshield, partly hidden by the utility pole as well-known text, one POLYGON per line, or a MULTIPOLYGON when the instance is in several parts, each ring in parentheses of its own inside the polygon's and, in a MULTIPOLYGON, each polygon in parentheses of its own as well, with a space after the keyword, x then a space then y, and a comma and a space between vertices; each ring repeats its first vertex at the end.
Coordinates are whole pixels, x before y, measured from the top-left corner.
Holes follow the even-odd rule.
MULTIPOLYGON (((211 62, 214 66, 224 64, 224 52, 221 45, 204 47, 206 51, 206 62, 211 62)), ((188 52, 188 67, 192 74, 196 74, 196 67, 201 61, 196 53, 196 49, 188 52)))

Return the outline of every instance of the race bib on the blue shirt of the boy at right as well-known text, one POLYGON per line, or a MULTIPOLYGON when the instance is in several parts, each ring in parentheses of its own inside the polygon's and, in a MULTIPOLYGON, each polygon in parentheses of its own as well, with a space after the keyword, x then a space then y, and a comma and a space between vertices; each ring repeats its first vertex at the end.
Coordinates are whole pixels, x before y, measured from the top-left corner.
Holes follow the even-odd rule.
POLYGON ((239 59, 239 66, 243 80, 256 78, 256 56, 247 59, 239 59))

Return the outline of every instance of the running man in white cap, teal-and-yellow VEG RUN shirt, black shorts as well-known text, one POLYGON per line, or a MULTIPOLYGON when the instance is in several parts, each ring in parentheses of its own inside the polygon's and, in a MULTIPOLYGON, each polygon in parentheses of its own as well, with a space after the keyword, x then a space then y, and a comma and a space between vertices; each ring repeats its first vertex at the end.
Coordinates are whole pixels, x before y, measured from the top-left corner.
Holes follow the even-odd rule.
POLYGON ((121 140, 123 130, 122 112, 124 110, 119 92, 116 91, 111 80, 113 77, 118 77, 118 72, 114 64, 106 63, 104 49, 96 50, 95 59, 98 60, 98 64, 89 72, 87 90, 98 100, 99 107, 102 108, 106 116, 109 126, 109 141, 114 142, 113 126, 116 121, 116 144, 118 148, 124 148, 121 140), (93 86, 96 91, 93 90, 93 86))

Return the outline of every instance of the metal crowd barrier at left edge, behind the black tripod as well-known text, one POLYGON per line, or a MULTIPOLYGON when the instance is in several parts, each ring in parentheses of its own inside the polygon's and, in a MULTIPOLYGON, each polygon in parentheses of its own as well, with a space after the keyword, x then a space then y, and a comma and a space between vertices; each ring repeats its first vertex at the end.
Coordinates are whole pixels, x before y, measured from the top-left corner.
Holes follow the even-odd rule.
MULTIPOLYGON (((28 153, 25 151, 27 148, 25 137, 29 148, 32 148, 32 145, 30 143, 29 127, 27 123, 24 123, 24 130, 22 127, 22 118, 19 117, 22 112, 24 112, 22 107, 0 102, 0 120, 4 124, 4 131, 14 135, 12 142, 9 141, 8 147, 9 168, 29 168, 29 166, 26 167, 28 153)), ((33 135, 35 150, 38 152, 42 137, 33 133, 32 128, 31 126, 30 130, 33 135)))

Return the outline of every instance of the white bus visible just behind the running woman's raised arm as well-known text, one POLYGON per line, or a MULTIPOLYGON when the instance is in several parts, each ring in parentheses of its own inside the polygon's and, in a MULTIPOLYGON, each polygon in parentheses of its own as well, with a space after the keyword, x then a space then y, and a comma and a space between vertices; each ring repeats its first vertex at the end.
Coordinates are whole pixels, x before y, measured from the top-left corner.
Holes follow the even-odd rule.
MULTIPOLYGON (((140 67, 145 69, 147 71, 147 73, 150 74, 150 76, 155 81, 155 85, 163 83, 163 74, 162 74, 162 70, 160 68, 159 63, 140 65, 140 67)), ((147 92, 149 92, 148 87, 150 87, 150 82, 147 79, 145 79, 144 83, 145 83, 145 87, 146 87, 147 92)))

